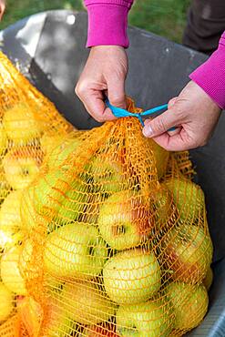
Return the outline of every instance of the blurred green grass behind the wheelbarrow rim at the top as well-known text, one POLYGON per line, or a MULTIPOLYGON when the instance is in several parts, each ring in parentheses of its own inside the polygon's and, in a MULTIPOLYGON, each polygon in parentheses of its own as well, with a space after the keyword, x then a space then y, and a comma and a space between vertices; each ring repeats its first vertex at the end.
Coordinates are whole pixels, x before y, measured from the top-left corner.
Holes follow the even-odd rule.
MULTIPOLYGON (((136 0, 129 15, 129 24, 150 30, 180 42, 186 22, 189 0, 136 0)), ((7 0, 7 11, 0 28, 47 9, 83 8, 82 0, 7 0)))

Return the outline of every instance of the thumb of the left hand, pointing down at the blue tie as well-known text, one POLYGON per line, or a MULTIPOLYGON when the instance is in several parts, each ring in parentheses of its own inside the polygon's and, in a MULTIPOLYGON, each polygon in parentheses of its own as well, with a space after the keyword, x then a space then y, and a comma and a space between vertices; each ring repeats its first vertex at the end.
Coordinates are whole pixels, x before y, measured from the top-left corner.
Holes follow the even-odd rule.
POLYGON ((107 97, 112 106, 126 108, 125 78, 107 83, 107 97))

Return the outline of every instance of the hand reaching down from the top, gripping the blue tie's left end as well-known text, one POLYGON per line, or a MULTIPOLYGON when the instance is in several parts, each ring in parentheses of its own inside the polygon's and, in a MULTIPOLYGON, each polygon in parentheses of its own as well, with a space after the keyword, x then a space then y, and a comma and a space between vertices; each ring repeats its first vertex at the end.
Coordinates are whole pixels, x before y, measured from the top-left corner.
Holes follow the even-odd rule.
POLYGON ((115 119, 106 107, 105 93, 110 103, 126 108, 125 80, 128 57, 122 46, 94 46, 78 80, 76 94, 88 113, 98 122, 115 119))

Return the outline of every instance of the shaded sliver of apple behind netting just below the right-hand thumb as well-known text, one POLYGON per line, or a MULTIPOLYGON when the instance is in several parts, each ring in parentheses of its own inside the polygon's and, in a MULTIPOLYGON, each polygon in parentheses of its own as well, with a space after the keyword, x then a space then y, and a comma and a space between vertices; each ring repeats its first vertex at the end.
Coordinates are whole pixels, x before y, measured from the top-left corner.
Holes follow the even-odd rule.
POLYGON ((161 148, 155 140, 149 138, 150 148, 153 151, 155 160, 156 160, 156 168, 158 173, 158 179, 161 179, 167 169, 168 160, 169 160, 169 151, 165 148, 161 148))

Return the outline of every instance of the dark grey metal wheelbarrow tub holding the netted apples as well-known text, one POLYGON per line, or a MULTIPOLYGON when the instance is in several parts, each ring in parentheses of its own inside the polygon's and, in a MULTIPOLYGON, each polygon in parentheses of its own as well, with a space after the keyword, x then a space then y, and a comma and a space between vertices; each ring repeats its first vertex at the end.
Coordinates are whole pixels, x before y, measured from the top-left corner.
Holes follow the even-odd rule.
MULTIPOLYGON (((207 56, 135 27, 128 29, 130 70, 127 92, 143 108, 168 102, 189 81, 189 73, 207 56), (160 85, 159 85, 160 84, 160 85)), ((88 50, 87 15, 50 11, 32 15, 0 32, 0 48, 22 73, 49 97, 77 128, 93 128, 74 94, 88 50)), ((192 150, 197 180, 205 192, 214 243, 214 281, 210 310, 189 336, 225 337, 225 116, 209 145, 192 150)))

